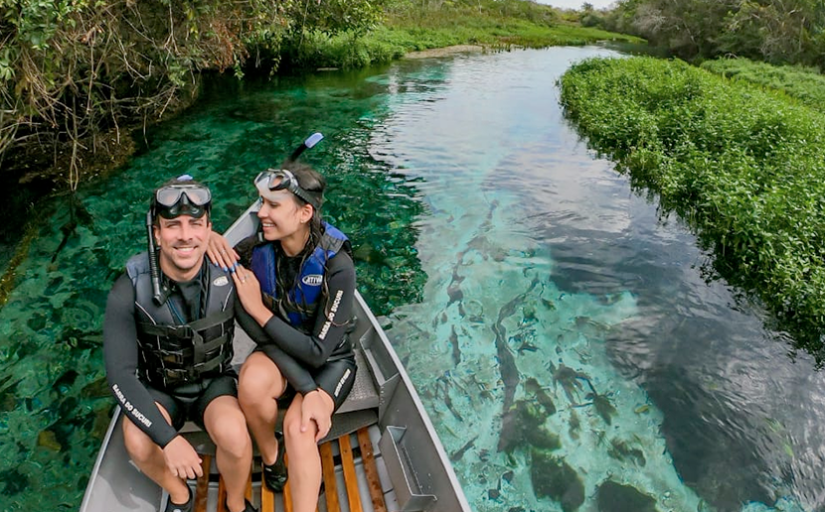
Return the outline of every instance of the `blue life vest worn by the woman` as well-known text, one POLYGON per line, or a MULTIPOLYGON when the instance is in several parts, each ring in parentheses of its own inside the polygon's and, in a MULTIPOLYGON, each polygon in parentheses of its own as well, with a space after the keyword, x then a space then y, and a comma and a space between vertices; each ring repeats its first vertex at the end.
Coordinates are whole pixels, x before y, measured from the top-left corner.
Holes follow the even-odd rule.
MULTIPOLYGON (((286 314, 285 320, 295 328, 304 332, 309 332, 311 324, 315 321, 315 310, 321 298, 323 290, 324 273, 326 264, 333 256, 343 248, 351 252, 349 238, 338 228, 324 222, 324 234, 321 241, 315 247, 312 254, 306 258, 300 269, 299 279, 289 290, 289 302, 297 306, 292 310, 285 309, 283 312, 274 313, 286 314)), ((252 249, 252 271, 261 283, 261 291, 268 302, 270 309, 275 309, 276 300, 276 255, 275 247, 267 242, 257 245, 252 249)))

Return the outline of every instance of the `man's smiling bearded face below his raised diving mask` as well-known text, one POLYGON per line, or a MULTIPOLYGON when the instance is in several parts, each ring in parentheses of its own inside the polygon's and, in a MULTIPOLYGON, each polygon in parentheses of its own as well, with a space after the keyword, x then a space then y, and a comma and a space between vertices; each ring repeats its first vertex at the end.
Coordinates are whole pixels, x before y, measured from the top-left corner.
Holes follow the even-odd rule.
POLYGON ((174 219, 158 217, 155 239, 160 249, 160 268, 175 281, 194 278, 203 263, 212 224, 207 215, 199 218, 181 215, 174 219))

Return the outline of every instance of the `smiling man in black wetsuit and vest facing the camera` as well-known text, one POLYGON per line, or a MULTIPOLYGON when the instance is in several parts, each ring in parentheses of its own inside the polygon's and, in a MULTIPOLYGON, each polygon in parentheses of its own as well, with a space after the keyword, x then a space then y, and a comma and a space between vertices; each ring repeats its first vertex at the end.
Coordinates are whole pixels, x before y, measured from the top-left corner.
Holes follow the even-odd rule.
POLYGON ((186 420, 215 442, 227 509, 254 511, 244 498, 252 442, 230 367, 235 290, 204 258, 211 199, 186 175, 155 191, 149 252, 128 261, 106 305, 106 373, 125 416, 126 450, 169 493, 166 512, 192 510, 186 479, 203 474, 200 457, 177 434, 186 420))

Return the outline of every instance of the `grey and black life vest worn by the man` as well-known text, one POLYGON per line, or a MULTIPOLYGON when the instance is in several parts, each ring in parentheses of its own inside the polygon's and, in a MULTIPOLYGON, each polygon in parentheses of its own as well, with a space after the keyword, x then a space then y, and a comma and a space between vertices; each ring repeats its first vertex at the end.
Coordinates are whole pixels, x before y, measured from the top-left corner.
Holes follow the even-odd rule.
POLYGON ((126 273, 135 288, 135 323, 140 350, 138 372, 153 386, 167 388, 218 376, 232 360, 235 332, 234 286, 229 275, 206 265, 206 310, 203 318, 180 324, 167 300, 152 300, 148 253, 133 256, 126 273))

